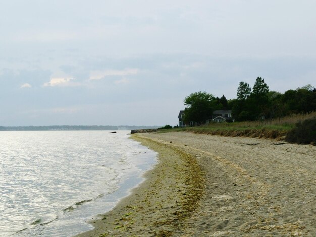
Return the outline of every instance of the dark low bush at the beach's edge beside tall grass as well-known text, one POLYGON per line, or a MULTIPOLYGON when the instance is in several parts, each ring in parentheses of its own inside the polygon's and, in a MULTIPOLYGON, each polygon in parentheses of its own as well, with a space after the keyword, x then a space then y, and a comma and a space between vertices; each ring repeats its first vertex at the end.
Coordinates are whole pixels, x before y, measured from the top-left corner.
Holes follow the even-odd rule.
POLYGON ((316 145, 316 118, 297 123, 296 128, 287 133, 285 141, 316 145))

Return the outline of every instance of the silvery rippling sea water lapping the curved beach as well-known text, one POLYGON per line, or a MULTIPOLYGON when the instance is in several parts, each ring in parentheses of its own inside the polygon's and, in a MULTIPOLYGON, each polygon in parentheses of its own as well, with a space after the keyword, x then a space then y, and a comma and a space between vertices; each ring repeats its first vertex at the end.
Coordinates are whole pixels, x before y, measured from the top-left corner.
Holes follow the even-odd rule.
POLYGON ((110 132, 0 132, 0 236, 73 236, 129 195, 156 153, 110 132))

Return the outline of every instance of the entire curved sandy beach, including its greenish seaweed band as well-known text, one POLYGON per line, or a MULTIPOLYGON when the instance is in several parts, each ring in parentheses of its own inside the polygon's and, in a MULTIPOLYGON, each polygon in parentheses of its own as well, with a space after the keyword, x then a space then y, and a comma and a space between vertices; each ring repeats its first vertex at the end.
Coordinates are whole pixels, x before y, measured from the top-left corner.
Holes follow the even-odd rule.
POLYGON ((159 163, 78 236, 316 236, 315 146, 186 132, 133 137, 159 152, 159 163))

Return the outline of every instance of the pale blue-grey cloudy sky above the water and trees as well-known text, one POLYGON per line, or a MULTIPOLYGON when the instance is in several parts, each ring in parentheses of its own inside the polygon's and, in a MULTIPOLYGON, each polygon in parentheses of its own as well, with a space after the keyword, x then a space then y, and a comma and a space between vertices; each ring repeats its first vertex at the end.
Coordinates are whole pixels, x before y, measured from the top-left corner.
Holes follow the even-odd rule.
POLYGON ((193 92, 316 87, 314 0, 3 0, 0 126, 175 126, 193 92))

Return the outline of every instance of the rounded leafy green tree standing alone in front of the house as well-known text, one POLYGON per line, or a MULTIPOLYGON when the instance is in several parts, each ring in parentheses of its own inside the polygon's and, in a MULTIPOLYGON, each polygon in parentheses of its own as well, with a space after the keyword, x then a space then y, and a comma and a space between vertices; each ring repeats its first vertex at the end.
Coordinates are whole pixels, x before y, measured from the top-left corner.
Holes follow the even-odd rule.
POLYGON ((185 97, 185 123, 195 122, 203 124, 205 121, 212 117, 213 111, 217 108, 216 98, 212 94, 205 91, 194 92, 185 97))

